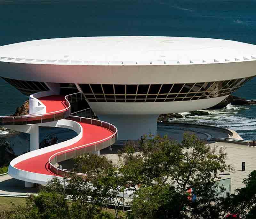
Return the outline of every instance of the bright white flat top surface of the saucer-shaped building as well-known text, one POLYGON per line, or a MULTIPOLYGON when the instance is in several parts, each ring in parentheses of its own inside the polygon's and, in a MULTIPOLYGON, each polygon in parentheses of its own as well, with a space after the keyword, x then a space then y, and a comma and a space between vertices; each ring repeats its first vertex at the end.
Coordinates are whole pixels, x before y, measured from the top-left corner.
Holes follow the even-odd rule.
POLYGON ((189 37, 74 37, 0 47, 0 61, 34 64, 193 65, 255 59, 256 45, 189 37))

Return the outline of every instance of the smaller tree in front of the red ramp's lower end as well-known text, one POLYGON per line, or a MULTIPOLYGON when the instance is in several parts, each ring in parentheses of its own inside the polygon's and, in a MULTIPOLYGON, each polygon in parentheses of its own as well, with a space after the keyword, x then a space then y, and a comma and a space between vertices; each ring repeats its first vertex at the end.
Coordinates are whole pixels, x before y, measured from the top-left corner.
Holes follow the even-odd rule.
POLYGON ((90 194, 90 200, 94 204, 101 204, 106 209, 109 204, 114 204, 116 218, 118 218, 120 206, 123 203, 119 193, 124 191, 123 178, 119 175, 118 167, 106 157, 86 154, 75 159, 74 171, 82 173, 84 177, 77 179, 75 176, 73 177, 74 181, 71 180, 69 183, 72 182, 73 185, 76 185, 74 188, 77 188, 77 191, 84 188, 85 200, 86 196, 90 194))

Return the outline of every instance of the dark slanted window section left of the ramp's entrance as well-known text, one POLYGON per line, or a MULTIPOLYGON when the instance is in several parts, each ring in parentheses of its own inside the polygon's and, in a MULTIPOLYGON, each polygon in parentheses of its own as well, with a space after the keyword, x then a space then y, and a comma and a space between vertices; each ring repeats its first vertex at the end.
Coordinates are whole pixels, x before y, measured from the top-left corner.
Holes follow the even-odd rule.
POLYGON ((2 77, 6 82, 18 89, 21 93, 29 96, 31 94, 50 90, 44 82, 21 81, 2 77))

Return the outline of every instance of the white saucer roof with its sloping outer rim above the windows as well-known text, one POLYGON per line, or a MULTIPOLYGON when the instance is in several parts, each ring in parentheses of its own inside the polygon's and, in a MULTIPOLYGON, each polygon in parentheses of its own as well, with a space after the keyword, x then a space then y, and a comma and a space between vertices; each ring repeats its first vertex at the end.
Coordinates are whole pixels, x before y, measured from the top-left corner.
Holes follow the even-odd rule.
POLYGON ((0 47, 0 76, 84 84, 170 84, 251 77, 256 45, 229 40, 106 36, 0 47))

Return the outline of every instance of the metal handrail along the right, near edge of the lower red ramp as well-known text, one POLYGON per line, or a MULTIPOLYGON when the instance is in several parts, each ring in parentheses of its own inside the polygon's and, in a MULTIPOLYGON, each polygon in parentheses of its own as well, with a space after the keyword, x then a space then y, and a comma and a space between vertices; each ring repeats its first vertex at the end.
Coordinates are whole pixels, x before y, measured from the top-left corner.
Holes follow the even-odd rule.
MULTIPOLYGON (((50 168, 50 169, 52 169, 52 168, 56 169, 56 170, 57 170, 57 171, 56 171, 56 172, 57 172, 57 175, 58 175, 58 172, 64 172, 64 174, 65 174, 65 173, 74 173, 74 172, 71 172, 71 171, 62 170, 62 169, 60 169, 60 168, 57 168, 57 167, 55 167, 55 166, 51 163, 51 161, 52 161, 54 158, 56 158, 58 154, 63 154, 63 153, 66 154, 67 152, 76 151, 77 149, 80 149, 80 148, 83 148, 83 147, 86 148, 86 146, 88 146, 88 145, 95 145, 95 149, 96 149, 96 145, 97 145, 97 144, 102 143, 102 142, 104 143, 104 141, 109 140, 109 139, 112 139, 113 137, 116 137, 116 138, 117 138, 117 128, 116 128, 116 126, 114 126, 114 125, 112 125, 112 124, 110 124, 110 123, 108 123, 108 122, 100 121, 100 120, 97 120, 97 119, 84 118, 84 117, 80 117, 80 116, 70 116, 70 117, 80 118, 80 121, 81 121, 81 118, 83 118, 83 119, 88 119, 88 120, 91 120, 91 123, 92 123, 92 120, 94 120, 94 121, 99 121, 100 124, 101 124, 101 126, 102 126, 102 122, 103 122, 103 123, 106 123, 106 124, 108 124, 108 127, 109 127, 108 129, 109 129, 109 130, 111 130, 110 127, 114 128, 115 133, 112 134, 111 136, 106 137, 106 138, 104 138, 104 139, 101 139, 101 140, 99 140, 99 141, 91 142, 91 143, 88 143, 88 144, 85 144, 85 145, 81 145, 81 146, 78 146, 78 147, 75 147, 75 148, 70 148, 70 149, 67 149, 67 150, 64 150, 64 151, 60 151, 60 152, 57 152, 57 153, 53 154, 53 155, 49 158, 49 160, 48 160, 49 165, 50 165, 49 168, 50 168)), ((75 156, 75 157, 76 157, 76 156, 75 156)), ((65 158, 66 158, 66 155, 65 155, 65 158)), ((56 162, 56 163, 57 163, 57 162, 56 162)), ((76 174, 76 175, 85 176, 85 175, 82 174, 82 173, 75 173, 75 174, 76 174)))

